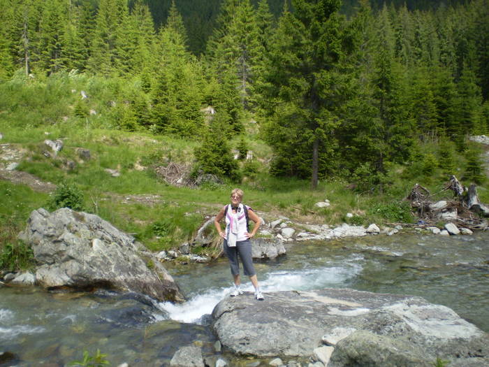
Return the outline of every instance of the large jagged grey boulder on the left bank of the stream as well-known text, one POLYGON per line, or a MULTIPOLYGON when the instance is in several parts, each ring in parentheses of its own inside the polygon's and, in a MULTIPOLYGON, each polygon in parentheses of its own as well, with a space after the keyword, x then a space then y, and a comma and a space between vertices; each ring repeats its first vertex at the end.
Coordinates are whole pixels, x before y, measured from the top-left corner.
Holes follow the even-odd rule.
POLYGON ((34 250, 36 281, 43 287, 103 287, 184 301, 161 263, 143 254, 143 245, 96 215, 41 208, 31 213, 19 237, 34 250))

